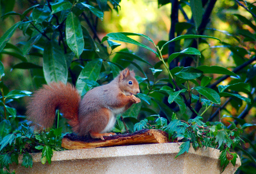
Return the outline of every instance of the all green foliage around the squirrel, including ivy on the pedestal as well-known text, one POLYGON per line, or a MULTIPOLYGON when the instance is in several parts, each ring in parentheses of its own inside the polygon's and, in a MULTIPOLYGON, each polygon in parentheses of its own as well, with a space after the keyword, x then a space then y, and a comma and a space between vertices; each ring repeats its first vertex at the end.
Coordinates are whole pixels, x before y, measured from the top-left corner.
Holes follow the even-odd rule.
MULTIPOLYGON (((230 37, 227 43, 226 39, 206 32, 210 30, 206 24, 211 21, 209 17, 216 1, 159 0, 159 8, 172 3, 171 30, 167 41, 156 43, 155 39, 134 32, 110 32, 100 40, 98 20, 103 20, 108 10, 118 12, 120 1, 31 1, 31 6, 22 13, 12 11, 15 4, 12 2, 1 3, 2 19, 15 16, 20 21, 16 20, 0 38, 0 55, 19 60, 13 64, 13 70, 30 70, 35 88, 52 81, 71 82, 83 96, 94 86, 111 81, 123 68, 133 66, 138 71, 136 74, 141 75, 136 78, 142 103, 119 115, 114 131, 162 129, 173 141, 184 142, 178 155, 188 151, 190 144, 195 149, 218 148, 224 170, 229 161, 235 164, 237 154, 232 152, 235 148, 242 155, 242 171, 248 172, 245 166, 256 165, 255 131, 251 131, 255 125, 244 119, 255 107, 256 50, 250 46, 256 41, 254 3, 244 3, 253 16, 250 20, 242 13, 233 15, 240 21, 236 34, 213 29, 230 37), (187 13, 192 14, 191 19, 187 13), (22 31, 23 37, 19 43, 10 44, 16 30, 22 31), (141 53, 121 49, 122 42, 150 52, 152 60, 139 56, 141 53), (232 60, 233 65, 226 67, 212 61, 209 50, 218 52, 217 48, 230 51, 225 59, 232 60), (239 144, 240 128, 247 133, 243 139, 250 145, 250 153, 239 144)), ((11 172, 9 164, 17 163, 20 153, 23 153, 23 166, 32 166, 27 152, 37 151, 42 152, 41 162, 50 164, 52 151, 61 150, 61 129, 31 133, 23 124, 24 116, 12 105, 31 92, 8 90, 2 81, 5 71, 1 61, 0 74, 1 172, 11 172)), ((65 132, 68 128, 64 126, 65 132)))

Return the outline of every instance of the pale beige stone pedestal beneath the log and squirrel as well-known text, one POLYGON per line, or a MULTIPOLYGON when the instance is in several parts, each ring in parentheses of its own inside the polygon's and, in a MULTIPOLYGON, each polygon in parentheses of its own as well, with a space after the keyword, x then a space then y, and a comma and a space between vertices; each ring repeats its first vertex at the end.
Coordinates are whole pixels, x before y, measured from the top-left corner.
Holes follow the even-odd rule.
MULTIPOLYGON (((142 144, 54 152, 51 165, 41 164, 41 154, 32 154, 33 167, 12 165, 16 173, 220 173, 219 150, 190 148, 175 158, 180 143, 142 144)), ((234 173, 241 165, 231 163, 223 173, 234 173)))

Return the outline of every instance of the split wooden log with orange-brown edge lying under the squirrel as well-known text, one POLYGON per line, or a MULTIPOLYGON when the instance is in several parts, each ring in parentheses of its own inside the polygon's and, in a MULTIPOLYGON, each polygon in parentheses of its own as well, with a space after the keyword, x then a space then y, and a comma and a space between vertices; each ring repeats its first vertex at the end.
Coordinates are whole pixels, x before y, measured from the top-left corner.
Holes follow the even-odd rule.
POLYGON ((65 135, 61 146, 69 150, 81 148, 122 146, 130 144, 168 143, 166 132, 158 129, 142 129, 134 133, 104 136, 105 140, 79 137, 75 134, 65 135))

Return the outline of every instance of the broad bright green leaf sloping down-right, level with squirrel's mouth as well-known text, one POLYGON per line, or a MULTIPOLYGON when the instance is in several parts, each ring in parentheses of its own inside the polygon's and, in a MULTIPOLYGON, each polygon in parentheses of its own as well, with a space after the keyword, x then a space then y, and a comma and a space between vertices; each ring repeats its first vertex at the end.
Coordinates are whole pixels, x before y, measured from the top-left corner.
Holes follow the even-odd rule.
POLYGON ((192 89, 197 90, 199 94, 205 96, 212 103, 220 104, 220 96, 215 90, 204 86, 196 86, 192 89))

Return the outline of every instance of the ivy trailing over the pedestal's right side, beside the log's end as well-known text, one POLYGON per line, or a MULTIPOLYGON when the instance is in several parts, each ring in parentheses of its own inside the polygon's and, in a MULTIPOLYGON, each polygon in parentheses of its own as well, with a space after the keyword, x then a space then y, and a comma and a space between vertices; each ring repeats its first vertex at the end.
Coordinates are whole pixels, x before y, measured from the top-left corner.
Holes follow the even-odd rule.
POLYGON ((173 119, 167 125, 167 119, 160 117, 159 115, 152 115, 156 117, 155 121, 150 119, 143 119, 134 126, 134 131, 145 128, 162 129, 169 134, 172 142, 184 142, 180 146, 180 151, 176 157, 185 152, 188 152, 190 146, 197 150, 200 147, 212 147, 218 148, 220 154, 220 165, 222 166, 222 172, 226 166, 231 162, 236 164, 237 154, 230 153, 240 142, 243 140, 240 137, 241 129, 234 128, 227 129, 221 122, 202 122, 202 117, 198 116, 194 119, 182 121, 177 119, 173 114, 173 119))

